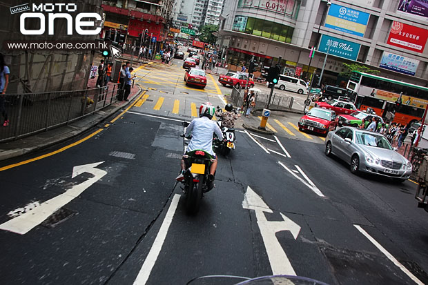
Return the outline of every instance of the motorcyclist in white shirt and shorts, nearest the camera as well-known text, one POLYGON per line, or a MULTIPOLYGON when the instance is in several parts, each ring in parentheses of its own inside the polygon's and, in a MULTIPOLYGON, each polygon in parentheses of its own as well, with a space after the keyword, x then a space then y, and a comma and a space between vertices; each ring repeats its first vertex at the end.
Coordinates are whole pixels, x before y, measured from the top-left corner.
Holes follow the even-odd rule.
MULTIPOLYGON (((191 141, 187 146, 187 153, 193 150, 204 150, 215 159, 210 166, 210 174, 208 175, 209 181, 214 181, 215 170, 217 169, 217 157, 213 151, 213 133, 218 137, 223 137, 222 130, 215 124, 215 121, 211 121, 215 114, 215 108, 211 103, 204 103, 199 108, 199 118, 195 118, 191 121, 186 129, 185 136, 192 135, 191 141)), ((177 181, 184 180, 184 173, 186 173, 186 163, 182 159, 182 172, 176 178, 177 181)))

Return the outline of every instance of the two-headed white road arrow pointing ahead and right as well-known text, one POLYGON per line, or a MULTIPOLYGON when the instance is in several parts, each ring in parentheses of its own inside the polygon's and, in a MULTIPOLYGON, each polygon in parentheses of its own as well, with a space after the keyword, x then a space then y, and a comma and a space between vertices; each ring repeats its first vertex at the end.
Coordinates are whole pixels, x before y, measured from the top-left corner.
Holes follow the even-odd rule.
POLYGON ((263 202, 262 197, 257 195, 250 186, 246 188, 242 208, 255 211, 257 225, 260 228, 260 234, 262 235, 264 247, 266 248, 269 263, 271 264, 272 274, 295 275, 293 266, 291 266, 290 260, 286 256, 280 242, 278 242, 275 233, 289 230, 294 239, 297 239, 300 233, 300 226, 282 213, 280 214, 283 221, 268 221, 264 212, 273 213, 272 210, 263 202))

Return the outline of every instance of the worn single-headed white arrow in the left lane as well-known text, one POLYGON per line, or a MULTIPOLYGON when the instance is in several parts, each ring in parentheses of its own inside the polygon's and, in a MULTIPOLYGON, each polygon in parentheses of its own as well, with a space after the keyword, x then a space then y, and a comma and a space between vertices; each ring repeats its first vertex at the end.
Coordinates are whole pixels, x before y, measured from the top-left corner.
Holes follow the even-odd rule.
POLYGON ((86 164, 82 166, 75 166, 72 171, 72 178, 80 175, 81 173, 91 173, 94 177, 84 181, 81 184, 72 186, 65 193, 58 195, 52 199, 49 199, 46 202, 40 204, 36 208, 28 211, 27 213, 20 215, 19 217, 14 217, 8 222, 0 225, 0 230, 8 230, 12 233, 18 233, 19 235, 25 235, 32 228, 41 224, 46 218, 55 213, 59 208, 68 204, 72 199, 75 199, 81 193, 89 188, 92 184, 97 182, 99 179, 104 177, 107 174, 106 171, 95 168, 102 164, 104 161, 97 162, 95 164, 86 164))

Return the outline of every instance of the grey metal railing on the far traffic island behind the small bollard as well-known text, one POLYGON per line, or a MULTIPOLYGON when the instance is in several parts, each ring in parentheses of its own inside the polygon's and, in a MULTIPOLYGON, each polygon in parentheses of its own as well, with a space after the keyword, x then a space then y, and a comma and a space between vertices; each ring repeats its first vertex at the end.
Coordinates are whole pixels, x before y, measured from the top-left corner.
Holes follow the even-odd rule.
MULTIPOLYGON (((231 101, 235 106, 242 106, 244 102, 244 90, 233 87, 231 101)), ((268 92, 255 92, 255 109, 266 108, 269 101, 268 92)), ((273 93, 269 108, 271 110, 291 110, 294 99, 291 96, 273 93)))

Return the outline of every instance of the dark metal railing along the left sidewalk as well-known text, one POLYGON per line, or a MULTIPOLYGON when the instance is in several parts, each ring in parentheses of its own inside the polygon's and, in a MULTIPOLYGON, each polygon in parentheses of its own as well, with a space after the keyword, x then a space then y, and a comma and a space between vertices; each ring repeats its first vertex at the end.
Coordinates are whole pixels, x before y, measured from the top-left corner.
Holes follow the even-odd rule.
POLYGON ((92 115, 117 101, 118 85, 113 83, 85 90, 1 95, 9 126, 3 127, 2 118, 0 142, 64 126, 92 115))

